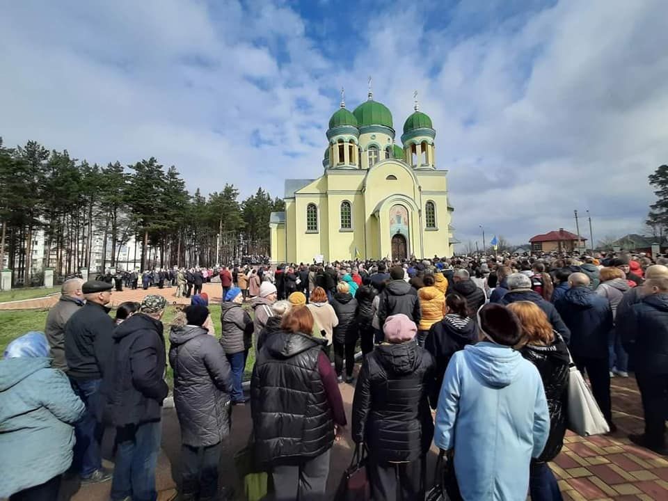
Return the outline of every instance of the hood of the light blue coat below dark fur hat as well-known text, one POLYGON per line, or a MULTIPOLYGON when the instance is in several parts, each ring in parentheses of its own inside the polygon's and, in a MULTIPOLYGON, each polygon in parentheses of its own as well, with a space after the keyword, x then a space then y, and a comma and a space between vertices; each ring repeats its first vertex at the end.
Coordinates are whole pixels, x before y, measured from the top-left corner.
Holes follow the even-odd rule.
POLYGON ((493 388, 505 388, 512 383, 523 360, 519 351, 485 341, 466 346, 464 356, 472 372, 493 388))

